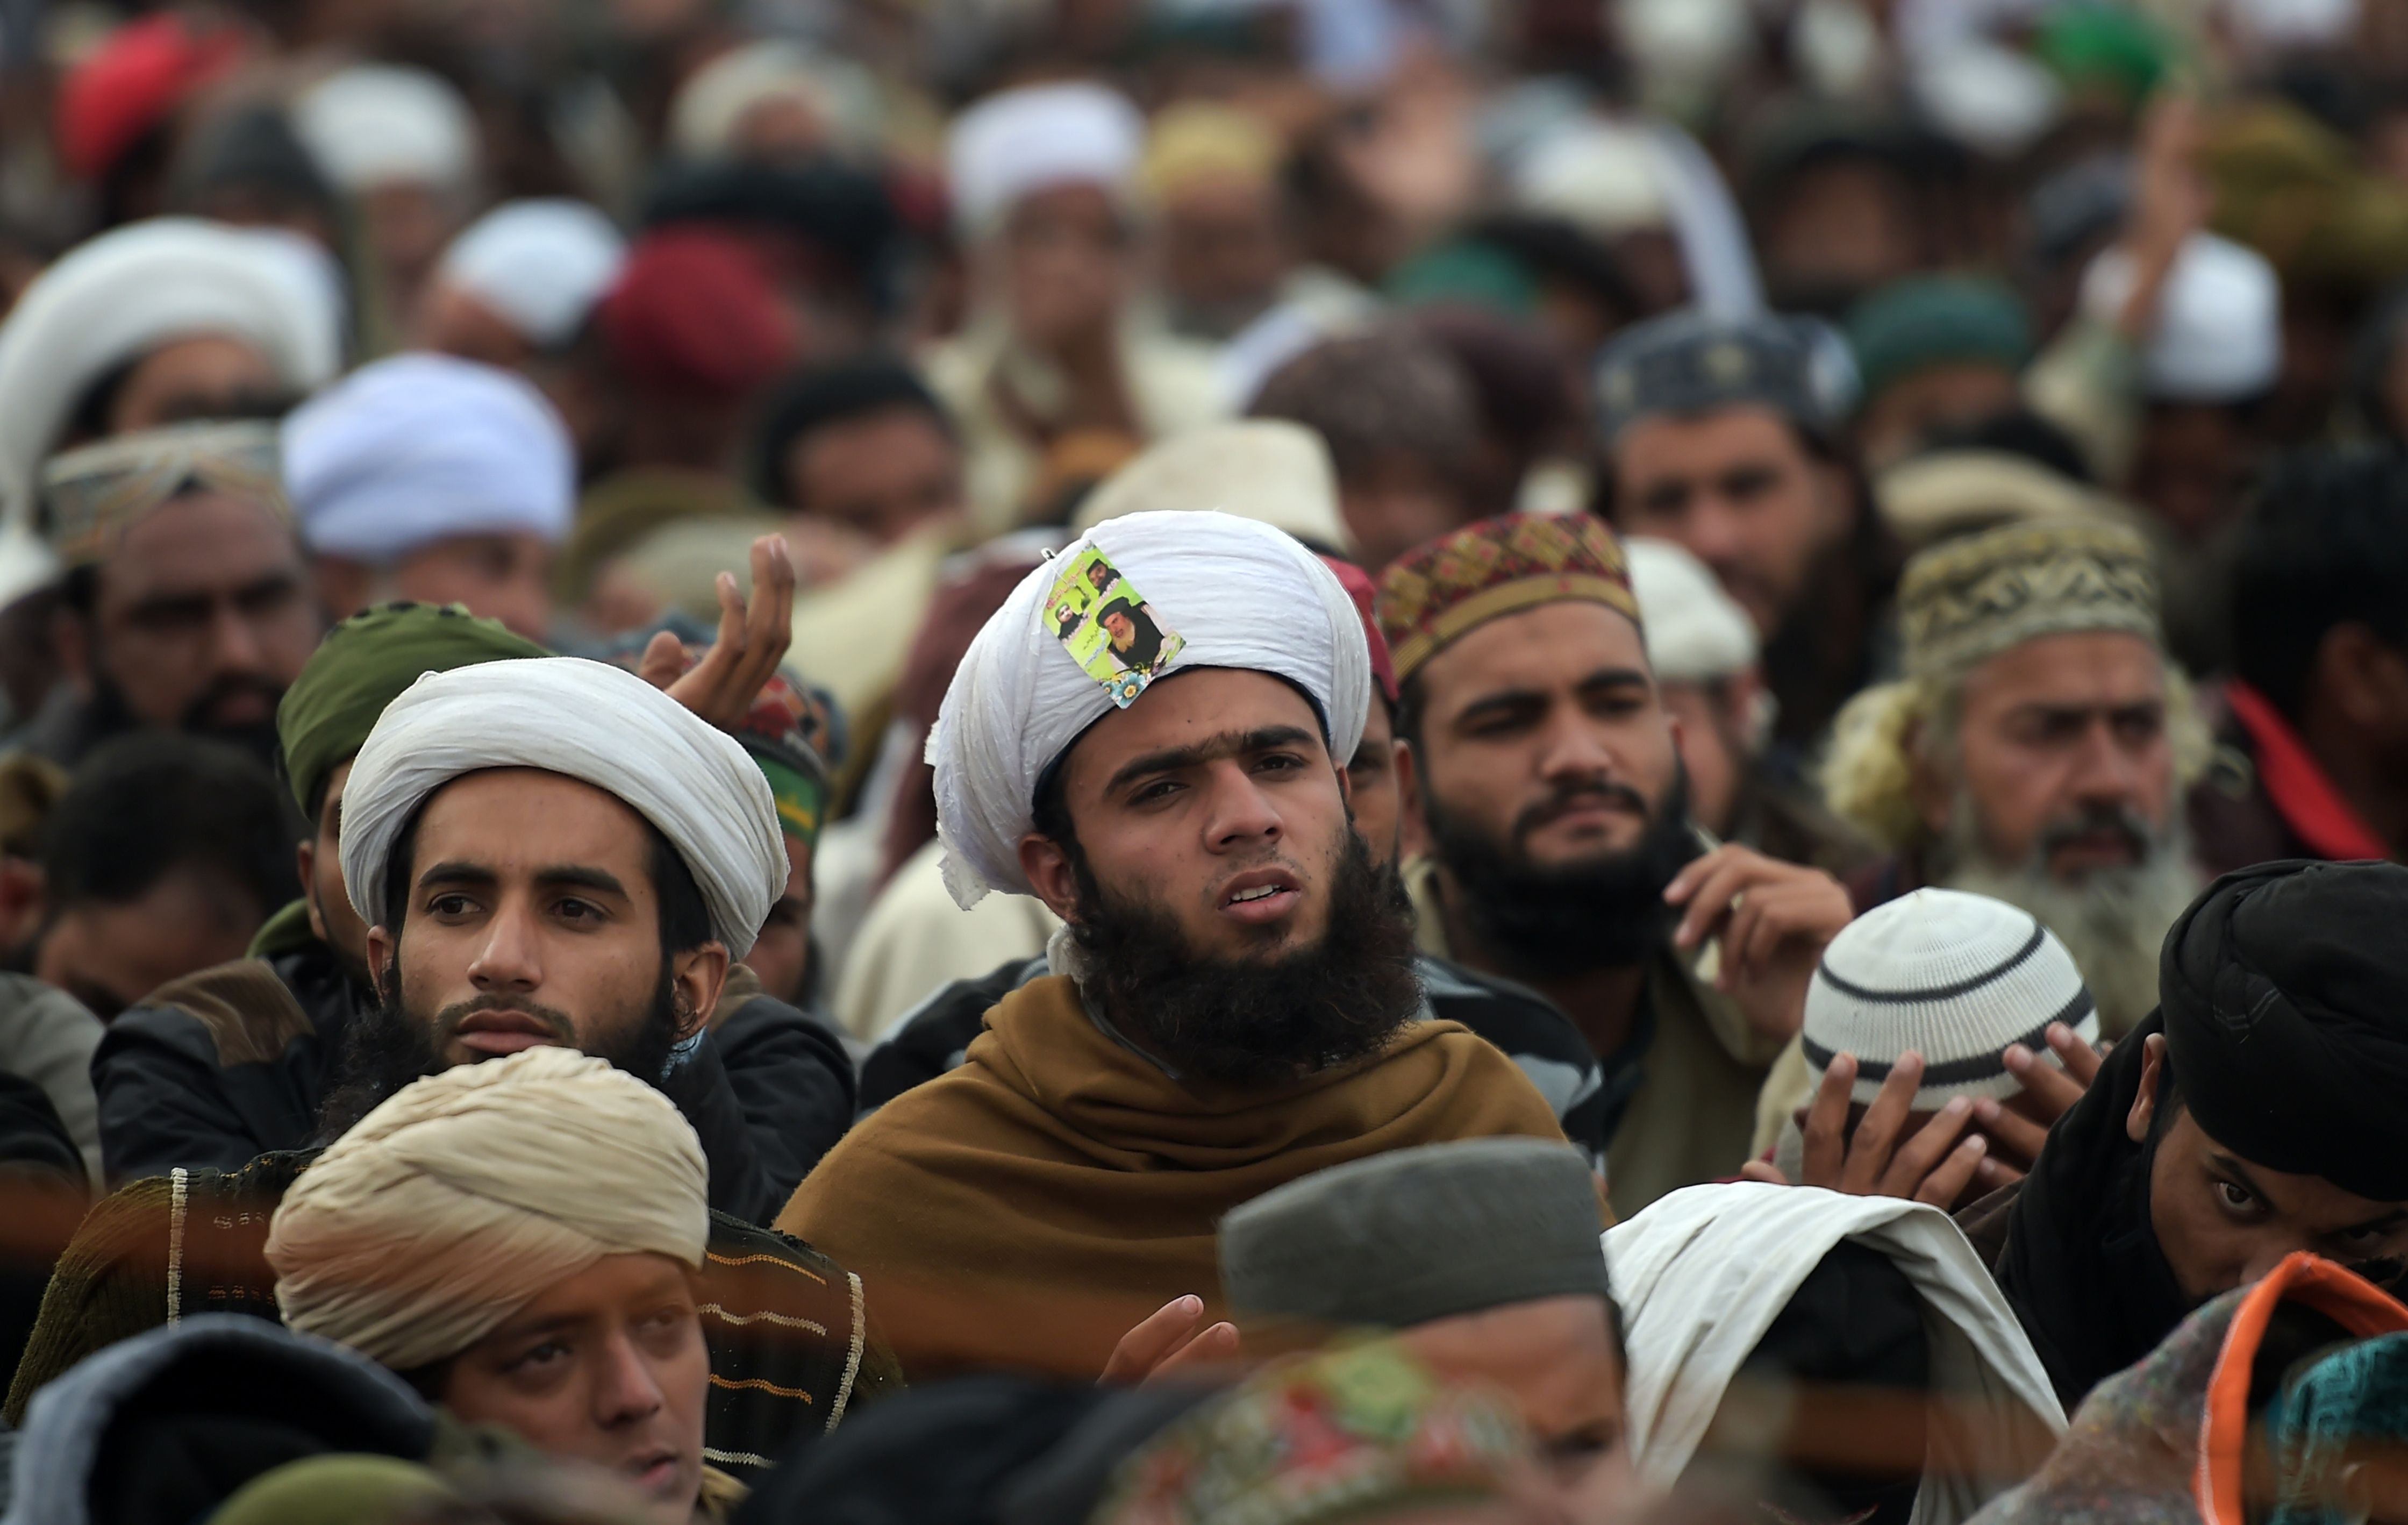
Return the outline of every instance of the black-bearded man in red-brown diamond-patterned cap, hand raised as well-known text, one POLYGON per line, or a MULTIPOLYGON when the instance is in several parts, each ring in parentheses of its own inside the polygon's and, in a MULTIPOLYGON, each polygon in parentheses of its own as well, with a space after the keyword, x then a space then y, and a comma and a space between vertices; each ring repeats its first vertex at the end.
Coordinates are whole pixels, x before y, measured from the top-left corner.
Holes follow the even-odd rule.
POLYGON ((1406 872, 1421 947, 1536 988, 1589 1041, 1618 1214, 1736 1173, 1849 906, 1690 824, 1623 547, 1594 518, 1481 520, 1382 573, 1380 624, 1430 838, 1406 872))

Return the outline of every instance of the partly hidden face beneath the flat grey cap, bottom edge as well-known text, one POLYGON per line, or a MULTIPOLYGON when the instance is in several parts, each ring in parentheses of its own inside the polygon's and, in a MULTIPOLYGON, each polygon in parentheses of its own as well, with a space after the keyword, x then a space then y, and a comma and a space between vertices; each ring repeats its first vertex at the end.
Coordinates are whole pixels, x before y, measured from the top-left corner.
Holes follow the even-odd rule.
POLYGON ((1440 1318, 1397 1335, 1440 1378, 1507 1392, 1565 1489, 1575 1520, 1633 1494, 1623 1361, 1594 1296, 1551 1296, 1440 1318))

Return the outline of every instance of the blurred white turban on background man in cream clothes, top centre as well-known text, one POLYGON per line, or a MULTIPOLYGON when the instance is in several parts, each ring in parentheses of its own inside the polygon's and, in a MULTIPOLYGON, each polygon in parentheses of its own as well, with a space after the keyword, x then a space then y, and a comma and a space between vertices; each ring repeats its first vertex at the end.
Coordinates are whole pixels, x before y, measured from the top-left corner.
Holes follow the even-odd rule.
POLYGON ((1057 186, 1100 186, 1127 202, 1146 152, 1146 118, 1103 84, 1023 84, 954 118, 944 171, 954 224, 995 231, 1021 198, 1057 186))

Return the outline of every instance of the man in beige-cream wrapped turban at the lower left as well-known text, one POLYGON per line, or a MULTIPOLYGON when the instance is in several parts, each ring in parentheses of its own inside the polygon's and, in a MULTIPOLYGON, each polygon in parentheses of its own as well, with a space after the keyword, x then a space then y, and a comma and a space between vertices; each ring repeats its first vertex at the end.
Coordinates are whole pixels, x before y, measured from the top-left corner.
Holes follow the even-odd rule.
POLYGON ((686 1525, 706 1479, 706 1197, 703 1147, 660 1091, 530 1048, 419 1079, 335 1140, 284 1193, 267 1265, 289 1327, 686 1525))

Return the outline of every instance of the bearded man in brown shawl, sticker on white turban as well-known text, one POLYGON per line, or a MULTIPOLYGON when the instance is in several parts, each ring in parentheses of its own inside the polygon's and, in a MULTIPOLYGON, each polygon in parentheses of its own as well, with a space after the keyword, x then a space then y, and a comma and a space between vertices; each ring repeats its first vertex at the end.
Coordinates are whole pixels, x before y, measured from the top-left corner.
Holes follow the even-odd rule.
POLYGON ((1370 699, 1336 576, 1221 513, 1103 523, 980 629, 929 742, 946 882, 1043 899, 1055 973, 778 1219, 862 1272, 913 1378, 1093 1378, 1156 1308, 1221 1303, 1238 1202, 1382 1149, 1563 1137, 1512 1060, 1411 1021, 1411 923, 1348 812, 1370 699), (1178 641, 1122 703, 1050 624, 1086 552, 1178 641))

